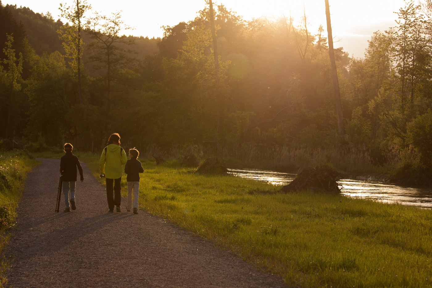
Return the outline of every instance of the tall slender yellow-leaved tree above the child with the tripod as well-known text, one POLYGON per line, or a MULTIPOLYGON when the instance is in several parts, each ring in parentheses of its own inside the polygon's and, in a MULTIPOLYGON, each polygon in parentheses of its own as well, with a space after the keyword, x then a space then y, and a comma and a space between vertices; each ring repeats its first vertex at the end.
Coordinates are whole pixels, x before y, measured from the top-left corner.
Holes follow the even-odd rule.
POLYGON ((73 59, 71 66, 76 70, 78 76, 79 104, 83 104, 81 90, 81 57, 83 55, 83 39, 81 37, 81 22, 86 11, 91 9, 86 0, 76 0, 74 6, 66 6, 60 3, 59 10, 61 16, 66 18, 71 24, 66 23, 57 32, 60 39, 63 40, 63 47, 66 51, 66 57, 73 59))

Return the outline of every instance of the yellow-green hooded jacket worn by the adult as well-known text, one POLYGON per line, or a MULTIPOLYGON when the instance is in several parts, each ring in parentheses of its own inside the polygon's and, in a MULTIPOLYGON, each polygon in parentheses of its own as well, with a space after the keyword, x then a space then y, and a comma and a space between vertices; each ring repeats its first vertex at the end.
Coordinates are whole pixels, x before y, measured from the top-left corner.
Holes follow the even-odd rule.
POLYGON ((105 178, 118 179, 123 175, 123 166, 127 162, 126 152, 117 144, 109 144, 102 150, 99 160, 99 171, 105 178))

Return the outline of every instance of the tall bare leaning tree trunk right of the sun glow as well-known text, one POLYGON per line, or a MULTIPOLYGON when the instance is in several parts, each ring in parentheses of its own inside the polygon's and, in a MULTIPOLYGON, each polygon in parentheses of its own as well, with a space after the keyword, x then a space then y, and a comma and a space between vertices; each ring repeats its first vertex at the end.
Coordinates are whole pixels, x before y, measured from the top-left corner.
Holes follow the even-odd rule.
POLYGON ((339 135, 343 135, 345 134, 345 131, 343 128, 342 104, 340 103, 340 91, 339 81, 337 80, 336 61, 334 60, 333 35, 331 33, 330 8, 328 0, 325 0, 325 14, 327 16, 328 53, 330 55, 331 73, 333 77, 333 90, 334 100, 336 104, 337 126, 339 130, 339 135))

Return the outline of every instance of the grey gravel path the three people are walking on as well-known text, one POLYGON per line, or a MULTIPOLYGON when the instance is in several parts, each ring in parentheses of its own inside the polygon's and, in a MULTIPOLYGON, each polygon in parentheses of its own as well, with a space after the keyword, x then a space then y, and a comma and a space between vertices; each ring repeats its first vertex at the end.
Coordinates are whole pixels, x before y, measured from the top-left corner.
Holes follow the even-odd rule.
POLYGON ((60 160, 38 159, 3 255, 13 259, 8 286, 19 287, 286 287, 213 243, 153 216, 108 214, 105 187, 85 163, 76 210, 55 213, 60 160))

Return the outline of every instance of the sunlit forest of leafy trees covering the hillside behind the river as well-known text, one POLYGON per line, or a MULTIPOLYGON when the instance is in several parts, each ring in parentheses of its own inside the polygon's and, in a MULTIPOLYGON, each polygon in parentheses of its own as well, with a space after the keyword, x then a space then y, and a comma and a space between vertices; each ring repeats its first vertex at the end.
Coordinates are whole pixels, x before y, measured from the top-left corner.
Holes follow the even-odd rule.
POLYGON ((406 1, 363 58, 334 49, 342 134, 326 27, 213 8, 215 37, 203 1, 194 20, 144 38, 83 0, 60 5, 66 23, 0 2, 0 149, 99 153, 117 132, 150 157, 194 147, 232 165, 432 186, 431 0, 406 1))

